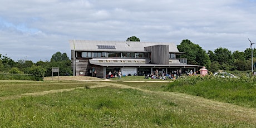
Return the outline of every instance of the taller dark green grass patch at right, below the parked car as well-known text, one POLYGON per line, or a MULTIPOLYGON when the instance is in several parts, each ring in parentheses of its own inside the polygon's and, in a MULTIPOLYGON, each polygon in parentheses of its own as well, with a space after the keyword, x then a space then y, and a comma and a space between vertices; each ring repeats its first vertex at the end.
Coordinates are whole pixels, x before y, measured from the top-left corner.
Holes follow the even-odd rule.
POLYGON ((236 105, 256 107, 256 77, 221 78, 192 76, 169 84, 165 91, 176 91, 236 105))

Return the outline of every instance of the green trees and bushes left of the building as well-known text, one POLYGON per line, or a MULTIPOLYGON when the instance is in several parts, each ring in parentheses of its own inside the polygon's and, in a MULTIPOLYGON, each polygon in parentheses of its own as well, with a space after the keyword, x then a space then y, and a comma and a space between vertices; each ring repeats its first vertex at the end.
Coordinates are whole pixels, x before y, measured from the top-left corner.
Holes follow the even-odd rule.
POLYGON ((0 54, 0 73, 32 74, 38 77, 52 76, 52 67, 60 68, 60 75, 72 75, 71 60, 66 53, 56 52, 50 61, 31 60, 13 61, 10 57, 0 54))

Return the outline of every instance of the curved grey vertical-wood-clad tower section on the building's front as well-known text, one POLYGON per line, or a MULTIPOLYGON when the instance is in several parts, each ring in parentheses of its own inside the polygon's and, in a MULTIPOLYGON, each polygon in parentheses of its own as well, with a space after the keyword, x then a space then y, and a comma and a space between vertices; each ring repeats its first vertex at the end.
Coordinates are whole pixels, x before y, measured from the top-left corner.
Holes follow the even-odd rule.
POLYGON ((169 65, 169 45, 149 46, 145 50, 151 52, 151 63, 169 65))

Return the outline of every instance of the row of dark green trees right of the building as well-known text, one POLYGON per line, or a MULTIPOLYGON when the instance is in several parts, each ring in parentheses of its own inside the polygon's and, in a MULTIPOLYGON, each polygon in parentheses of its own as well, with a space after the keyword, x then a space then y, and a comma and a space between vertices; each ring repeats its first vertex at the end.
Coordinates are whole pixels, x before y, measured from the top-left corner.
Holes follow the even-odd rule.
MULTIPOLYGON (((219 47, 214 51, 203 50, 199 45, 190 40, 181 41, 177 46, 180 52, 180 58, 187 58, 190 65, 205 66, 211 72, 223 71, 249 71, 252 69, 252 49, 247 48, 243 52, 230 51, 227 48, 219 47)), ((256 56, 256 50, 253 49, 253 56, 256 56)), ((253 58, 253 63, 255 58, 253 58)))

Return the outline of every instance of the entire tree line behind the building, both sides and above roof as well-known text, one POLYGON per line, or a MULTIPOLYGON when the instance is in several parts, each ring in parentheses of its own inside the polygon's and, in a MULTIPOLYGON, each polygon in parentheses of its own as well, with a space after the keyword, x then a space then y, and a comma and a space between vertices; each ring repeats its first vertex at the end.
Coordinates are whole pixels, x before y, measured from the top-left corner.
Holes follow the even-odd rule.
MULTIPOLYGON (((137 37, 129 37, 127 41, 138 41, 137 37)), ((224 71, 249 71, 252 68, 251 50, 247 48, 245 51, 230 51, 227 48, 219 47, 214 51, 203 50, 199 45, 190 40, 181 41, 177 46, 180 52, 179 58, 187 58, 189 65, 205 66, 211 72, 219 70, 224 71)), ((256 56, 256 50, 253 49, 253 56, 256 56)), ((253 58, 255 62, 255 58, 253 58)), ((50 61, 38 61, 33 63, 31 60, 13 61, 7 55, 0 54, 0 73, 12 74, 32 74, 36 76, 51 76, 52 67, 60 68, 60 75, 73 75, 71 60, 66 53, 56 52, 52 55, 50 61)))

